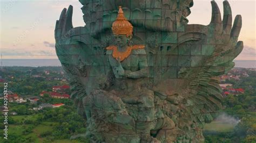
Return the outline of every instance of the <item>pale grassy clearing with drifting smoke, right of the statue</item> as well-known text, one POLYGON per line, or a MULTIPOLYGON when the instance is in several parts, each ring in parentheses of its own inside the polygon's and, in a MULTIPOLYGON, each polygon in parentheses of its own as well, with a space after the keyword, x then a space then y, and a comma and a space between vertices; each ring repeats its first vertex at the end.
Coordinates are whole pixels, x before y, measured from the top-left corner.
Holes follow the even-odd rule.
POLYGON ((210 124, 205 124, 204 131, 213 132, 229 132, 234 129, 234 124, 227 124, 221 121, 212 121, 210 124))

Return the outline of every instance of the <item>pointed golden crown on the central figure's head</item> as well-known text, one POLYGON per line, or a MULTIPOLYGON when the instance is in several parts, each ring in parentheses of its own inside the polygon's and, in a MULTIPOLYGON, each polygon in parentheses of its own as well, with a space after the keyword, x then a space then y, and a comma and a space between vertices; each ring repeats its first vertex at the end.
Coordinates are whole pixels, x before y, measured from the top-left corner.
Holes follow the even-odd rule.
POLYGON ((112 31, 114 35, 125 34, 126 37, 132 35, 132 24, 124 17, 122 7, 119 6, 119 11, 116 21, 112 24, 112 31))

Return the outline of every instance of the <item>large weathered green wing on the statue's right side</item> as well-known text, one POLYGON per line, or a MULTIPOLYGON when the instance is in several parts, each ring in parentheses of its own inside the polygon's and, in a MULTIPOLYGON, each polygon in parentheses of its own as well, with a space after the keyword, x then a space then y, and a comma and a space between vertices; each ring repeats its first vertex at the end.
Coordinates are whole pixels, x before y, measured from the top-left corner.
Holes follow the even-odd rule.
POLYGON ((182 131, 191 132, 186 137, 196 132, 198 140, 203 139, 200 132, 204 124, 210 123, 222 108, 218 76, 234 67, 233 60, 243 48, 243 42, 238 41, 241 16, 235 17, 232 26, 228 2, 224 1, 223 20, 217 4, 211 3, 209 25, 186 25, 184 32, 162 33, 162 45, 150 49, 153 52, 148 58, 156 82, 153 90, 166 101, 166 115, 182 131))

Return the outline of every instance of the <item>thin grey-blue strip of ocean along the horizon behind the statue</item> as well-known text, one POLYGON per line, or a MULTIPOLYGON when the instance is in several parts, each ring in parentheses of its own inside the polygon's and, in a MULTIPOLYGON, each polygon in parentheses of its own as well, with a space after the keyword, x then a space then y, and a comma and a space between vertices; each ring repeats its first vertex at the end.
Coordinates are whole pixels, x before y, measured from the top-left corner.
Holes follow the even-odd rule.
MULTIPOLYGON (((235 67, 256 68, 256 61, 235 60, 235 67)), ((58 59, 2 59, 3 66, 43 67, 61 66, 58 59)))

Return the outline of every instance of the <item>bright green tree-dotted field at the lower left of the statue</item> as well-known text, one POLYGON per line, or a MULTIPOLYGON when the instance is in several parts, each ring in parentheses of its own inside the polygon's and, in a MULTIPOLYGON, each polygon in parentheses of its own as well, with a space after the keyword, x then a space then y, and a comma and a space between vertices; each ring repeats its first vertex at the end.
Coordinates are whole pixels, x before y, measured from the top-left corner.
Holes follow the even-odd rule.
POLYGON ((72 135, 86 131, 85 120, 72 106, 45 108, 33 115, 11 116, 11 118, 14 121, 9 124, 9 139, 6 141, 1 138, 0 142, 84 142, 85 140, 69 140, 72 135))

